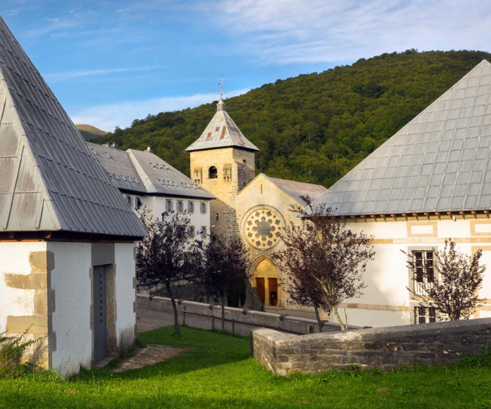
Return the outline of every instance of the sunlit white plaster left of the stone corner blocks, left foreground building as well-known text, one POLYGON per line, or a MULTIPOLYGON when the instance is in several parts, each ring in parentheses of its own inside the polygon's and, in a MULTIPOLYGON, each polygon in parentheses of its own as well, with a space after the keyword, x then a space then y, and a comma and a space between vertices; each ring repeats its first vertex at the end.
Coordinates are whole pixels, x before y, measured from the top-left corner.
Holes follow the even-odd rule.
POLYGON ((31 273, 29 253, 32 251, 46 251, 46 243, 0 243, 0 332, 5 331, 7 316, 34 313, 34 290, 11 288, 5 284, 5 273, 31 273))

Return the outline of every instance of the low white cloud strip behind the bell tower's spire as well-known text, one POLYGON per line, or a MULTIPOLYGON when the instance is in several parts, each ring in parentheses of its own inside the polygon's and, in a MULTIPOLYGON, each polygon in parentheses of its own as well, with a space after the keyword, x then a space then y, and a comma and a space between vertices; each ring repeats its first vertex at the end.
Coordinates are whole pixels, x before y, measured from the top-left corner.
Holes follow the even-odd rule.
MULTIPOLYGON (((233 97, 244 94, 248 90, 248 88, 238 89, 227 92, 224 96, 233 97)), ((145 101, 126 101, 82 109, 81 111, 73 112, 70 116, 76 124, 89 124, 105 131, 112 131, 116 126, 125 128, 134 119, 145 118, 148 114, 197 107, 198 105, 210 103, 217 99, 218 95, 216 93, 207 93, 155 98, 145 101)))

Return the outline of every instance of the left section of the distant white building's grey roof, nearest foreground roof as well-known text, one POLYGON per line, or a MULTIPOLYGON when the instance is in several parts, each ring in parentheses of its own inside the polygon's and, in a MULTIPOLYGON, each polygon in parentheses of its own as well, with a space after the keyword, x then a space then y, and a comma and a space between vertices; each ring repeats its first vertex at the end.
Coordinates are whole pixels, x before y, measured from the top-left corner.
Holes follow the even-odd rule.
POLYGON ((87 146, 106 169, 118 189, 135 193, 147 193, 128 152, 91 142, 87 142, 87 146))

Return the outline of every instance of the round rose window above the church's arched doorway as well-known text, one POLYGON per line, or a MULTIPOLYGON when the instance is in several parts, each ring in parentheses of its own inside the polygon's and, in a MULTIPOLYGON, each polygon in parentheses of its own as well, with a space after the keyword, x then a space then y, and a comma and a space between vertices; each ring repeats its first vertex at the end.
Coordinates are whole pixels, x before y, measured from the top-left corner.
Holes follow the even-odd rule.
POLYGON ((244 225, 247 243, 256 248, 271 248, 281 240, 283 225, 283 218, 273 210, 255 210, 248 215, 244 225))

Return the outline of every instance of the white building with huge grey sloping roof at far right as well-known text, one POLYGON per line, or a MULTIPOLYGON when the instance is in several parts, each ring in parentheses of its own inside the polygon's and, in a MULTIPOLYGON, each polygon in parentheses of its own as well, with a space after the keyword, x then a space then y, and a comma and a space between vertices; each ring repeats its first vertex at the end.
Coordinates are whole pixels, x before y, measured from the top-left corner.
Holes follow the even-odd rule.
MULTIPOLYGON (((314 204, 375 237, 368 287, 348 300, 348 322, 390 326, 433 321, 407 287, 413 253, 442 249, 452 238, 461 251, 483 250, 488 266, 479 293, 491 317, 491 64, 483 60, 433 104, 347 173, 314 204)), ((343 310, 341 309, 341 316, 343 310)))

